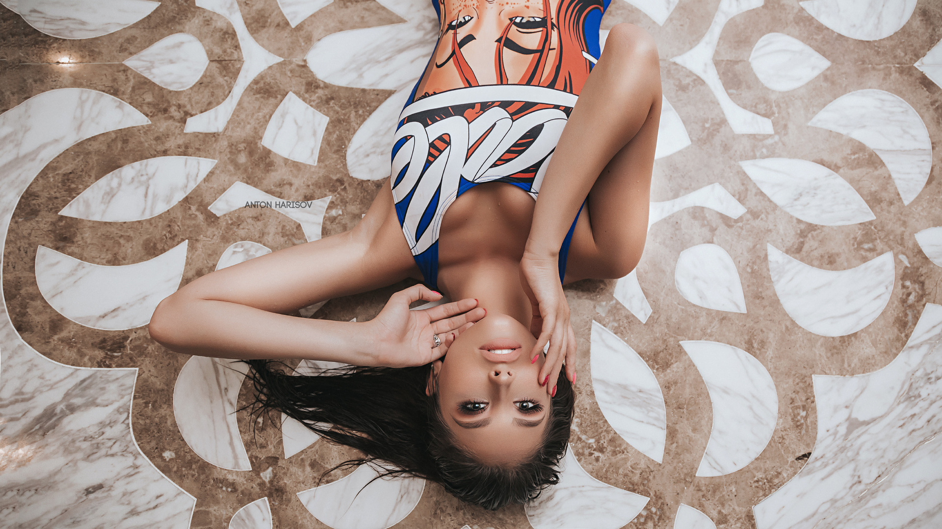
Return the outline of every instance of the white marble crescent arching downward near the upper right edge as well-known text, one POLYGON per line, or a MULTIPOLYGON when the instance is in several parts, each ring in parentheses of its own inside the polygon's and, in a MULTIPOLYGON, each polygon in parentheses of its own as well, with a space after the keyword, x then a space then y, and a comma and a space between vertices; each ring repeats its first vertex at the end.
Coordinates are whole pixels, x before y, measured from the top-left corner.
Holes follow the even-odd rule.
POLYGON ((933 143, 915 108, 885 90, 857 90, 827 104, 808 124, 853 137, 876 152, 889 169, 903 204, 929 179, 933 143))

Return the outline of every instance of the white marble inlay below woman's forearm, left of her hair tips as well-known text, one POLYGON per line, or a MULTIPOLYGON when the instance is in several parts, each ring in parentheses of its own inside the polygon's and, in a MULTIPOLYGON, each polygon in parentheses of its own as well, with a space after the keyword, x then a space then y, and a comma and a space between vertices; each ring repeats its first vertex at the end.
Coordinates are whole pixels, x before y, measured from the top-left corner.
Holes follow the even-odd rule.
POLYGON ((251 471, 235 419, 235 401, 248 364, 190 357, 173 384, 173 417, 197 456, 219 468, 251 471))

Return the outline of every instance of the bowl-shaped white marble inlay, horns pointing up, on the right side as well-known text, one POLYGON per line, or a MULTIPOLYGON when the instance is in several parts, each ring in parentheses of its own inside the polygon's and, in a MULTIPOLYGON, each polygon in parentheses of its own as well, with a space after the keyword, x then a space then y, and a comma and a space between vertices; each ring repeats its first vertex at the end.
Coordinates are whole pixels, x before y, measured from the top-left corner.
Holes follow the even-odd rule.
POLYGON ((847 270, 823 270, 793 259, 771 245, 769 271, 785 312, 803 329, 845 336, 877 319, 893 293, 893 252, 847 270))

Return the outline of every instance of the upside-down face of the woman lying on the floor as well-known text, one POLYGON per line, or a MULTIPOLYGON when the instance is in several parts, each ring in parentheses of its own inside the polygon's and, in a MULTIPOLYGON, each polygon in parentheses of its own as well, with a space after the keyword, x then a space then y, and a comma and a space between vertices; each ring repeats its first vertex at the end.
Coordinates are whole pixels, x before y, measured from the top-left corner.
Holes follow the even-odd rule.
POLYGON ((516 463, 543 441, 550 397, 537 381, 543 355, 530 363, 534 345, 520 322, 489 313, 434 364, 442 416, 481 462, 516 463))

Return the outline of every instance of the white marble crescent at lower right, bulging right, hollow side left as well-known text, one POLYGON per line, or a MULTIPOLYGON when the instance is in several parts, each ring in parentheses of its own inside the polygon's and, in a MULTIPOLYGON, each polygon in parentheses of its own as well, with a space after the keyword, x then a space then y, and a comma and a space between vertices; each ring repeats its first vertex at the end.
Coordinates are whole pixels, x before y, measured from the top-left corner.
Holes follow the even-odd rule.
POLYGON ((734 473, 765 450, 778 420, 778 394, 762 362, 719 342, 681 342, 707 383, 713 409, 699 476, 734 473))

